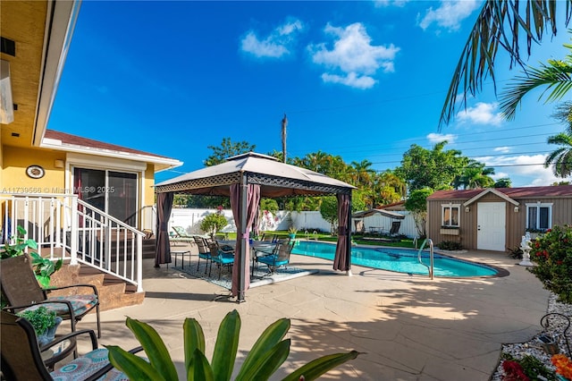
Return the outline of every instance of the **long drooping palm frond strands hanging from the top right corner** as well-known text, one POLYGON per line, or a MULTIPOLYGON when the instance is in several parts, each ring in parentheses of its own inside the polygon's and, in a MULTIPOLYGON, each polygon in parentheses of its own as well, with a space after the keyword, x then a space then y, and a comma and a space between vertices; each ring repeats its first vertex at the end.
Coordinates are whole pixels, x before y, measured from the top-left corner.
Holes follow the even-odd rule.
POLYGON ((440 128, 443 124, 448 124, 456 113, 459 93, 463 97, 462 105, 466 107, 467 94, 475 96, 482 89, 484 79, 490 76, 493 83, 495 82, 494 63, 499 47, 509 53, 510 68, 516 64, 524 67, 520 55, 520 43, 523 39, 521 34, 526 35, 528 56, 531 54, 532 43, 540 43, 544 33, 551 37, 556 36, 557 5, 565 5, 565 25, 568 26, 572 15, 572 0, 484 2, 453 73, 439 120, 440 128))

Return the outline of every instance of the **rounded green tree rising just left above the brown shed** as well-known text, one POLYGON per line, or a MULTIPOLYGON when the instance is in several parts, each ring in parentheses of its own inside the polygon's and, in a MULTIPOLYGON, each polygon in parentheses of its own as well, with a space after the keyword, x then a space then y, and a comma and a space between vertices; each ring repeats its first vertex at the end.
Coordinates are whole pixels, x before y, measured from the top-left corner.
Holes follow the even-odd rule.
POLYGON ((468 164, 457 149, 443 150, 447 141, 437 143, 432 150, 413 144, 403 154, 401 166, 395 172, 408 183, 409 191, 431 188, 452 189, 455 178, 468 164))

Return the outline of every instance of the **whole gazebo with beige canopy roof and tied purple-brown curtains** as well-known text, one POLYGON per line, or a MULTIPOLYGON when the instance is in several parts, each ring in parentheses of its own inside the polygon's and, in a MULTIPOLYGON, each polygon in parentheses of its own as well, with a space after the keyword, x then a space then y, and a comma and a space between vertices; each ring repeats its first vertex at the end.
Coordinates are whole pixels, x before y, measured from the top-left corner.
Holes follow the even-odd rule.
POLYGON ((325 174, 296 165, 288 165, 275 157, 248 152, 229 157, 224 163, 182 174, 156 184, 157 240, 155 265, 171 261, 167 226, 175 193, 227 196, 237 227, 235 260, 232 267, 232 296, 244 301, 250 284, 249 232, 257 222, 260 199, 292 196, 336 195, 338 199, 338 242, 334 270, 349 272, 351 238, 351 191, 354 186, 325 174))

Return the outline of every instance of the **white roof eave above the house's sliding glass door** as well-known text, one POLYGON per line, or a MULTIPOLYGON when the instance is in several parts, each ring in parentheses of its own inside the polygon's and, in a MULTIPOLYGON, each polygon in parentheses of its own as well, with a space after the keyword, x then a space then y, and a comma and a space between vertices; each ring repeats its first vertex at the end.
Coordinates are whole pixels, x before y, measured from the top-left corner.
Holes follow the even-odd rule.
POLYGON ((181 166, 183 163, 179 160, 172 159, 169 157, 156 157, 152 155, 142 155, 132 152, 121 152, 114 151, 111 149, 93 148, 85 147, 74 144, 63 143, 62 140, 57 139, 44 139, 40 145, 41 148, 54 149, 58 151, 73 152, 84 155, 93 155, 99 157, 113 157, 124 160, 139 161, 145 163, 151 163, 155 165, 155 172, 161 172, 167 169, 176 168, 181 166))

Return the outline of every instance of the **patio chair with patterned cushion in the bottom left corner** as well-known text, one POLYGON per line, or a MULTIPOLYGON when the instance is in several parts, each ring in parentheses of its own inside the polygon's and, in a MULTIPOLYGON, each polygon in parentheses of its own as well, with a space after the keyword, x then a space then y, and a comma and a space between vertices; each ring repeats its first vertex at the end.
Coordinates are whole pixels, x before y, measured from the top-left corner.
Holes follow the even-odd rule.
MULTIPOLYGON (((40 349, 34 328, 25 318, 0 311, 0 326, 2 327, 2 335, 0 336, 2 362, 0 362, 0 367, 7 380, 97 380, 101 377, 109 377, 105 379, 127 379, 107 360, 107 350, 105 348, 97 349, 96 334, 91 329, 60 336, 53 343, 49 343, 40 349), (71 340, 71 343, 75 345, 80 335, 89 336, 92 350, 75 360, 71 360, 62 368, 50 371, 46 367, 42 355, 44 354, 46 357, 46 354, 51 353, 49 352, 50 348, 55 348, 57 344, 63 343, 65 340, 71 340)), ((136 353, 141 349, 138 347, 130 352, 136 353)))

